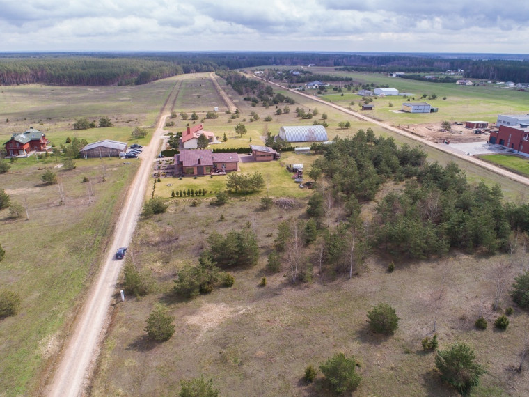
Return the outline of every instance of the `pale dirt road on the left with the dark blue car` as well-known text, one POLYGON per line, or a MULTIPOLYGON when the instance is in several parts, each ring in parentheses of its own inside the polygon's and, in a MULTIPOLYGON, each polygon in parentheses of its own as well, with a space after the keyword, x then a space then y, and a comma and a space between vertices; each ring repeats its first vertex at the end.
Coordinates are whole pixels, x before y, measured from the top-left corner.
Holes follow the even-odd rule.
MULTIPOLYGON (((111 297, 123 264, 123 261, 116 260, 114 256, 119 247, 127 247, 131 241, 145 197, 152 161, 158 154, 167 116, 160 117, 149 146, 145 146, 141 154, 143 159, 120 211, 106 261, 88 293, 88 298, 74 326, 74 332, 70 335, 70 341, 65 346, 54 378, 42 391, 44 396, 74 397, 84 393, 97 359, 100 341, 104 337, 111 297)), ((130 161, 137 160, 131 159, 130 161)))

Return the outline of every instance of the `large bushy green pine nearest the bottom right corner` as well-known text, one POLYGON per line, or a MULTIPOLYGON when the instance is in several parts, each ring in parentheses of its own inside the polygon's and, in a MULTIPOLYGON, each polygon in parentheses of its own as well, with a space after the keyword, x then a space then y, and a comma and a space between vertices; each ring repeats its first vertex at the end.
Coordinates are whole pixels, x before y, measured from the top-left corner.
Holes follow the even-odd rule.
POLYGON ((482 366, 474 360, 474 351, 468 345, 455 343, 450 348, 437 352, 435 366, 445 382, 465 394, 480 382, 480 376, 485 373, 482 366))

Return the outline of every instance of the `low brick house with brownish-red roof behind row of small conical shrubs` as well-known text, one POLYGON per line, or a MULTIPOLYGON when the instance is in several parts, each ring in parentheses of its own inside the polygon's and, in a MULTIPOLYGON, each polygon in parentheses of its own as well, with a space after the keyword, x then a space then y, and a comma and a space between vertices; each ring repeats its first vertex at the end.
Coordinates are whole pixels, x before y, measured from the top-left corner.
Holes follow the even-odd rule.
POLYGON ((237 153, 212 153, 209 149, 180 150, 175 155, 175 175, 200 176, 239 169, 237 153))

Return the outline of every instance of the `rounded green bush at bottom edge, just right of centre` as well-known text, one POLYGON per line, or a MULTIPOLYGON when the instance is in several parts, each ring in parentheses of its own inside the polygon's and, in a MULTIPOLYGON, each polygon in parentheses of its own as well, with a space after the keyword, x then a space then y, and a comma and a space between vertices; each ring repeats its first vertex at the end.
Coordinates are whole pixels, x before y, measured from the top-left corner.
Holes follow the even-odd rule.
POLYGON ((319 366, 325 376, 329 388, 335 393, 353 391, 358 387, 361 377, 355 372, 356 360, 347 358, 343 353, 338 353, 319 366))

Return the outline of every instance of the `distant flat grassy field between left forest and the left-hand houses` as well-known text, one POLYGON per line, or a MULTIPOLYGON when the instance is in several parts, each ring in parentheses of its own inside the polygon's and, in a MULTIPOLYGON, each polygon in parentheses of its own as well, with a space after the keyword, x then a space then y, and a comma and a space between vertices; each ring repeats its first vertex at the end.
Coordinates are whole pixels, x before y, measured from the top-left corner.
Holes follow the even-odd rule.
MULTIPOLYGON (((164 100, 179 77, 154 81, 143 86, 3 86, 0 90, 0 141, 29 127, 44 132, 59 145, 66 137, 88 142, 102 139, 129 141, 135 127, 153 127, 164 100), (115 127, 72 130, 75 119, 99 120, 109 116, 115 127)), ((141 139, 148 142, 150 137, 141 139)))

